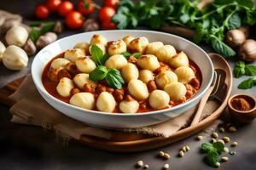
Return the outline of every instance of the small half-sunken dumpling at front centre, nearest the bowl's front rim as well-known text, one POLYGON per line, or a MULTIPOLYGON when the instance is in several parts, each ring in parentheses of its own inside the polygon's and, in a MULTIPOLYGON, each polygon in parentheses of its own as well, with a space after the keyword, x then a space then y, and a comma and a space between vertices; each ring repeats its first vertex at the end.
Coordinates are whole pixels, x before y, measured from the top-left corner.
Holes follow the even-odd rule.
POLYGON ((140 106, 139 103, 135 99, 131 101, 123 100, 119 104, 119 109, 123 113, 136 113, 139 106, 140 106))

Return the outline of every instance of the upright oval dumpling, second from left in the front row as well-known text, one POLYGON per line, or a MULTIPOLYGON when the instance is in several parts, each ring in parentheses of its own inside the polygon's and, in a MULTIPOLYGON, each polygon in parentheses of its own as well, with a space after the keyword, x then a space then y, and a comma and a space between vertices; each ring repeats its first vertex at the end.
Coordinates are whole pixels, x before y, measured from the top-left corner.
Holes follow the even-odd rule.
POLYGON ((115 105, 113 95, 108 92, 102 92, 96 101, 97 109, 103 112, 113 112, 115 105))

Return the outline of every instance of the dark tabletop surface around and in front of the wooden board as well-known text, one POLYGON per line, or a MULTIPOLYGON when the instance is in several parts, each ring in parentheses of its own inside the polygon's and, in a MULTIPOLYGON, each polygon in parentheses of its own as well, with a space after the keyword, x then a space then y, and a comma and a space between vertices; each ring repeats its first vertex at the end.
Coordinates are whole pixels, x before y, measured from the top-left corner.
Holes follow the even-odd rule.
MULTIPOLYGON (((26 20, 33 20, 32 12, 39 0, 1 0, 0 8, 10 12, 22 14, 26 20)), ((65 31, 61 37, 77 33, 65 31)), ((211 50, 201 45, 207 51, 211 50)), ((232 64, 230 63, 232 66, 232 64)), ((3 67, 3 65, 0 65, 3 67)), ((0 68, 1 69, 1 68, 0 68)), ((0 73, 2 76, 3 72, 0 73)), ((19 73, 17 73, 19 74, 19 73)), ((19 76, 19 75, 16 75, 19 76)), ((242 79, 235 80, 233 94, 240 93, 236 86, 242 79)), ((256 88, 243 91, 256 96, 256 88)), ((225 113, 227 115, 227 113, 225 113)), ((138 159, 149 164, 149 169, 161 169, 165 163, 170 164, 170 169, 201 170, 211 169, 203 161, 204 155, 200 153, 202 143, 195 140, 195 136, 176 144, 171 144, 159 150, 171 154, 169 161, 156 158, 159 150, 150 150, 132 154, 110 153, 95 150, 84 144, 71 140, 64 147, 55 139, 54 132, 45 132, 39 127, 23 126, 9 122, 9 108, 0 105, 0 169, 85 169, 85 170, 126 170, 136 169, 134 166, 138 159), (191 148, 183 157, 178 158, 177 152, 184 144, 191 148)), ((227 118, 229 120, 229 118, 227 118)), ((236 140, 236 156, 229 156, 230 161, 221 164, 221 169, 256 169, 256 122, 241 126, 236 133, 225 133, 230 139, 236 140)), ((202 133, 209 140, 209 134, 202 133)))

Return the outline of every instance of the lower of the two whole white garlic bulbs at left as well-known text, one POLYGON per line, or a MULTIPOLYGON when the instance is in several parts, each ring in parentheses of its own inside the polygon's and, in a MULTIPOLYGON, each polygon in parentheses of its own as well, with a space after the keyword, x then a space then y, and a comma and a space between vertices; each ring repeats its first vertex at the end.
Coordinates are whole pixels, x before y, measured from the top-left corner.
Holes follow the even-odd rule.
POLYGON ((3 53, 3 65, 10 70, 18 71, 26 67, 28 57, 26 52, 15 45, 6 48, 3 53))

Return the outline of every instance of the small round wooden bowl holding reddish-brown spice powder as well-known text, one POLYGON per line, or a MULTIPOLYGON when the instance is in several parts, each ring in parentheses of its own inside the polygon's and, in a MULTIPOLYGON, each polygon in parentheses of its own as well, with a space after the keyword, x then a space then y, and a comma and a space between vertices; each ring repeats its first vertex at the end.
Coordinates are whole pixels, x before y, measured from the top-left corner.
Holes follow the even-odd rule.
POLYGON ((228 100, 228 108, 230 115, 238 122, 249 123, 253 122, 253 119, 256 117, 256 99, 248 94, 236 94, 230 97, 228 100), (249 111, 239 111, 236 110, 233 105, 231 105, 232 99, 242 98, 247 100, 247 102, 252 106, 252 109, 249 111))

